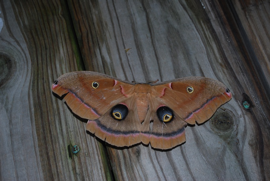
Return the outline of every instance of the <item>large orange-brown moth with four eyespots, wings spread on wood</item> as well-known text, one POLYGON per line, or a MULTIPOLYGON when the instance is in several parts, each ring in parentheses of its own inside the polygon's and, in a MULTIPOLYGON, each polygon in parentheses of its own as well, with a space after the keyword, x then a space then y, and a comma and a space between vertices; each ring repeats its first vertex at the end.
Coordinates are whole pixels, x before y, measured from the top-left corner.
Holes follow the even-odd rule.
POLYGON ((91 71, 62 75, 52 91, 89 119, 86 129, 119 147, 143 142, 169 149, 186 141, 187 123, 203 123, 232 94, 219 81, 186 77, 162 83, 132 83, 91 71))

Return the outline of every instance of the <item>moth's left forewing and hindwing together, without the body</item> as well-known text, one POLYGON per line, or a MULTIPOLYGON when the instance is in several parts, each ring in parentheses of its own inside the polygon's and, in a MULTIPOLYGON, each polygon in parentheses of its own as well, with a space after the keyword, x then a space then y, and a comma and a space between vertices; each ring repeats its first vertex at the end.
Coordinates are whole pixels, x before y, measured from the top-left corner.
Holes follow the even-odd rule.
POLYGON ((71 110, 89 119, 86 129, 115 146, 140 142, 134 84, 108 75, 77 71, 62 75, 52 91, 62 96, 71 110))

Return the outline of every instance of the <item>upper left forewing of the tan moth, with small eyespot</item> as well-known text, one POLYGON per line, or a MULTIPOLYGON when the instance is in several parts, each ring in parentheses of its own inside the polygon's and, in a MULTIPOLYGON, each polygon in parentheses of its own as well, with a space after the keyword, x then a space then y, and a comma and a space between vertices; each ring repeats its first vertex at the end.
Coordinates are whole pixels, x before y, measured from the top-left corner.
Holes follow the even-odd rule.
POLYGON ((114 105, 132 94, 133 84, 91 71, 76 71, 60 76, 52 91, 64 100, 71 110, 85 119, 98 119, 114 105))

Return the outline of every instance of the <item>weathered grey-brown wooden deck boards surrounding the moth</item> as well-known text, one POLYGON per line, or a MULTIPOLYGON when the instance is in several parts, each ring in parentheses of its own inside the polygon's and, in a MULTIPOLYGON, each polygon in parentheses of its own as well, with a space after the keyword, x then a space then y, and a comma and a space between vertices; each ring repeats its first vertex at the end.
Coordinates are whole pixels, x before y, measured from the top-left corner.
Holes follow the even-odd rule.
POLYGON ((269 1, 0 0, 0 11, 0 180, 270 180, 269 1), (174 149, 115 148, 52 94, 77 70, 205 76, 233 99, 174 149))

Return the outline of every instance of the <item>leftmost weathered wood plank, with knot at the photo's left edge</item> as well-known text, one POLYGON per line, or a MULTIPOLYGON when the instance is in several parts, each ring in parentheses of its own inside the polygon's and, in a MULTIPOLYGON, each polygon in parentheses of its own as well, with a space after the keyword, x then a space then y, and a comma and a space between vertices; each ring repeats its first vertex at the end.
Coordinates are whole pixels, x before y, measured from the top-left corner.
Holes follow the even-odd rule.
POLYGON ((0 1, 0 11, 0 180, 105 180, 100 144, 50 90, 77 70, 67 9, 0 1), (74 144, 77 155, 68 151, 74 144))

